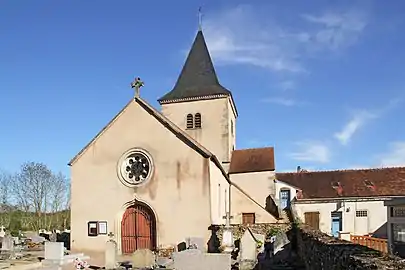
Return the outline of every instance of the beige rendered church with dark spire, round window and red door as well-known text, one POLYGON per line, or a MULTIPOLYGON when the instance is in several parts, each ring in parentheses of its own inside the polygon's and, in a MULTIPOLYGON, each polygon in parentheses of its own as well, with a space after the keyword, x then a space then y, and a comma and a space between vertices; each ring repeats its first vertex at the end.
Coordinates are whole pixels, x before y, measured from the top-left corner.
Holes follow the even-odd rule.
POLYGON ((112 234, 124 254, 207 241, 227 213, 232 224, 280 222, 274 149, 235 150, 235 100, 201 30, 158 101, 132 98, 70 161, 73 250, 103 251, 112 234))

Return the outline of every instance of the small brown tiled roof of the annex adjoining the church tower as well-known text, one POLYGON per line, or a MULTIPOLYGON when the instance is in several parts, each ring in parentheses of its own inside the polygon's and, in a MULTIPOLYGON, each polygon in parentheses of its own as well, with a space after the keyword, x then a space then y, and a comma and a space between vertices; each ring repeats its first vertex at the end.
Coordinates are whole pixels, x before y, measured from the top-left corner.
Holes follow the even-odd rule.
POLYGON ((230 174, 274 170, 273 147, 241 149, 232 152, 230 174))

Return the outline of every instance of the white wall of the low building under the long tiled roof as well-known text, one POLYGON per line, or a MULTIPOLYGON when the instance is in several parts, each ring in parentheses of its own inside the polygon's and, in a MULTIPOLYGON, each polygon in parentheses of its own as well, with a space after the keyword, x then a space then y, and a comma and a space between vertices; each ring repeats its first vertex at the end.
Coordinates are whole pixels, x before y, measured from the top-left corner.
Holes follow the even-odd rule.
POLYGON ((337 208, 336 202, 295 203, 293 208, 298 217, 304 221, 305 212, 319 212, 319 229, 331 233, 331 212, 342 212, 342 233, 365 235, 374 233, 387 222, 387 210, 384 201, 346 201, 337 208), (366 210, 367 218, 356 217, 356 211, 366 210))

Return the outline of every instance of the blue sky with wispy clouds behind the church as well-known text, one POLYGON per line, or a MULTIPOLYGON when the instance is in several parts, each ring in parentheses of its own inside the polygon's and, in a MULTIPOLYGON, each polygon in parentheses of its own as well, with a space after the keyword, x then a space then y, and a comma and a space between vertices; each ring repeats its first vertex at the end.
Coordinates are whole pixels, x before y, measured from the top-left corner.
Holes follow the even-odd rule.
MULTIPOLYGON (((72 158, 132 97, 171 90, 201 1, 0 3, 0 168, 72 158)), ((278 171, 405 164, 404 1, 213 1, 203 29, 237 148, 278 171)))

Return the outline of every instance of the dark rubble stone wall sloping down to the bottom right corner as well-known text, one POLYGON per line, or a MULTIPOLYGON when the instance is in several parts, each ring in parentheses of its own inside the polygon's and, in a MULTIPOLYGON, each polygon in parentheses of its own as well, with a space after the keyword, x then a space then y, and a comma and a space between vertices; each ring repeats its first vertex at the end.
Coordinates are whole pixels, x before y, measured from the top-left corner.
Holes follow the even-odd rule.
POLYGON ((333 238, 305 225, 295 232, 297 252, 307 269, 405 269, 400 258, 333 238))

